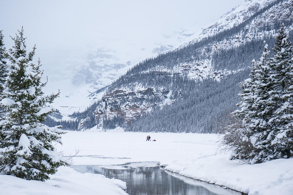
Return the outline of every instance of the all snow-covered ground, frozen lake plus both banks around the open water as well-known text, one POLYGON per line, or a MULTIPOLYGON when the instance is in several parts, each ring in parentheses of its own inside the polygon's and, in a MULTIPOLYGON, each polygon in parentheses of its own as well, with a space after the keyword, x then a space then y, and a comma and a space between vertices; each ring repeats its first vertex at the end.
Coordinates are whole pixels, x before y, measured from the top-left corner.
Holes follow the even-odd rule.
MULTIPOLYGON (((64 156, 80 150, 74 165, 123 169, 125 163, 160 162, 165 170, 223 188, 252 195, 292 194, 293 158, 255 165, 230 161, 229 154, 217 150, 218 139, 216 134, 68 131, 57 149, 64 156), (146 141, 147 135, 156 141, 146 141)), ((47 182, 0 175, 0 194, 126 194, 125 187, 121 180, 68 167, 60 167, 47 182)))

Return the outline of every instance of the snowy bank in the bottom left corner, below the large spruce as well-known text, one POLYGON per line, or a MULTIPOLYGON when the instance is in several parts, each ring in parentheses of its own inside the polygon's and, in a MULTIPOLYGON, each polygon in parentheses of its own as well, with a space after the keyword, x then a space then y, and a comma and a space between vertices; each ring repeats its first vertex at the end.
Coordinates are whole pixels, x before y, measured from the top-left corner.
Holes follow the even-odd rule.
POLYGON ((0 175, 0 194, 127 194, 126 183, 108 179, 104 175, 81 174, 69 167, 59 167, 58 172, 46 182, 23 180, 10 175, 0 175))

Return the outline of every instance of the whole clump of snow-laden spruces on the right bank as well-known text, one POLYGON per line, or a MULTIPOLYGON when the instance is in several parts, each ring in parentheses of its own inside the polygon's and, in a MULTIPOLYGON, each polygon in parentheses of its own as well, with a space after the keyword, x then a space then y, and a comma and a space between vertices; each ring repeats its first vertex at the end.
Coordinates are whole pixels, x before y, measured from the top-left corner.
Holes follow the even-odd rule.
POLYGON ((254 164, 293 154, 293 56, 284 25, 273 50, 275 56, 269 58, 265 44, 260 61, 253 61, 251 78, 240 84, 241 101, 237 104, 240 109, 233 114, 243 122, 244 131, 238 131, 235 141, 229 139, 229 134, 223 139, 224 145, 232 146, 230 149, 235 153, 232 159, 254 164))

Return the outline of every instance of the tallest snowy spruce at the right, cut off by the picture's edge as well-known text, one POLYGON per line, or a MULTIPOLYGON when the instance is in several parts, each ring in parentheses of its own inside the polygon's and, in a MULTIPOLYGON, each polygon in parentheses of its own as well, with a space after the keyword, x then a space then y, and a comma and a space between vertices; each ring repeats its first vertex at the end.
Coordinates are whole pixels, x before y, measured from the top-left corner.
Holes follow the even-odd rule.
POLYGON ((273 150, 269 158, 289 158, 293 156, 293 51, 284 24, 276 36, 273 51, 270 66, 274 86, 270 99, 277 109, 269 121, 272 129, 267 140, 273 150))

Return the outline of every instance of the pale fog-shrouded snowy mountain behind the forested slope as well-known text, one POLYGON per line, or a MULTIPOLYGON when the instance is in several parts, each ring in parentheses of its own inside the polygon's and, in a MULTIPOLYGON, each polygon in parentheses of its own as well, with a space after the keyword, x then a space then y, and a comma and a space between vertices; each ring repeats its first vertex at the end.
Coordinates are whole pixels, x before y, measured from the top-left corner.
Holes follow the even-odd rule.
MULTIPOLYGON (((194 33, 196 27, 190 28, 194 33)), ((70 77, 72 88, 75 90, 61 94, 53 105, 64 114, 84 111, 89 104, 102 97, 101 93, 89 95, 110 85, 139 61, 165 53, 184 42, 189 36, 191 34, 186 34, 185 31, 177 31, 157 37, 153 43, 142 45, 141 48, 137 43, 128 42, 121 44, 131 45, 128 46, 128 50, 104 47, 91 51, 88 53, 86 63, 79 66, 79 69, 73 70, 73 76, 70 77)))

